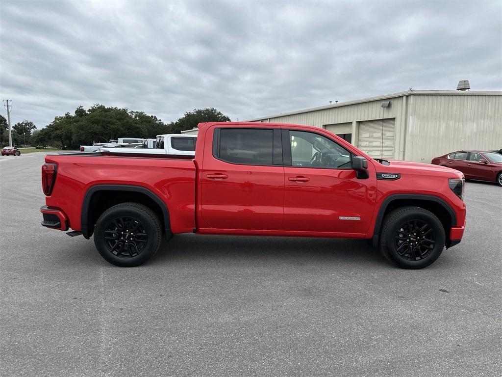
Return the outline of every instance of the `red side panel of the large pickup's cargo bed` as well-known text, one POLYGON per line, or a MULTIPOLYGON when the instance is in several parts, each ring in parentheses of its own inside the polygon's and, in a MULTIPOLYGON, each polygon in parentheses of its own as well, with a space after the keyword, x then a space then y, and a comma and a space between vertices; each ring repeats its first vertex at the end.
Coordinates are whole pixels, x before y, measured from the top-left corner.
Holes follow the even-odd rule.
MULTIPOLYGON (((117 156, 103 152, 50 154, 45 160, 57 164, 53 191, 46 197, 49 207, 65 208, 69 227, 81 230, 82 203, 90 187, 121 185, 144 187, 168 208, 173 233, 195 227, 196 168, 187 156, 117 156)), ((114 186, 113 190, 116 190, 114 186)), ((117 194, 119 196, 119 194, 117 194)))

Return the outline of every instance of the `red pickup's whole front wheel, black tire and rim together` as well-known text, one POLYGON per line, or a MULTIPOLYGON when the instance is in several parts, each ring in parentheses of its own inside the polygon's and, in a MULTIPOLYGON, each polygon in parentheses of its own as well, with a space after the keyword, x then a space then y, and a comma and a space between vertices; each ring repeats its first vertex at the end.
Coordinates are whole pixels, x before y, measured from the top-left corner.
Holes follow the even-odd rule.
POLYGON ((401 268, 427 267, 439 258, 444 245, 443 224, 430 211, 401 207, 384 219, 380 251, 401 268))

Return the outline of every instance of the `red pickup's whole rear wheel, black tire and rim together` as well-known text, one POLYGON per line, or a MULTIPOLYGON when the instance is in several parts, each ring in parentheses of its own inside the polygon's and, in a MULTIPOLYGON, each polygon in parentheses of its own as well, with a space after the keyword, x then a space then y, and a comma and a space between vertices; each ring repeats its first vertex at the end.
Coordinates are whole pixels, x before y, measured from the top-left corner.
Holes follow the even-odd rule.
POLYGON ((120 267, 145 263, 159 250, 161 240, 159 218, 150 208, 138 203, 108 208, 94 228, 94 244, 99 254, 120 267))

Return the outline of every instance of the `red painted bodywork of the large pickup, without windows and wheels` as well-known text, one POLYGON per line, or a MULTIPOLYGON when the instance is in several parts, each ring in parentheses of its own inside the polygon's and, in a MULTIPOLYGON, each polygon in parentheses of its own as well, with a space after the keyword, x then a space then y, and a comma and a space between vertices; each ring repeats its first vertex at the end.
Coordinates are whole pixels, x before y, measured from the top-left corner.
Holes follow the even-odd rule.
POLYGON ((48 155, 46 162, 58 165, 46 204, 61 210, 73 230, 81 230, 87 191, 99 184, 149 190, 168 209, 173 233, 196 229, 201 234, 371 238, 382 205, 391 196, 403 194, 430 196, 446 203, 456 216, 451 237, 461 238, 465 225, 465 205, 448 184, 448 178, 463 177, 459 171, 400 161, 383 165, 330 132, 310 126, 199 124, 193 160, 76 153, 48 155), (359 179, 354 170, 346 168, 240 165, 219 160, 213 156, 213 135, 216 128, 226 127, 318 133, 367 159, 369 176, 359 179), (382 180, 377 173, 400 177, 382 180))

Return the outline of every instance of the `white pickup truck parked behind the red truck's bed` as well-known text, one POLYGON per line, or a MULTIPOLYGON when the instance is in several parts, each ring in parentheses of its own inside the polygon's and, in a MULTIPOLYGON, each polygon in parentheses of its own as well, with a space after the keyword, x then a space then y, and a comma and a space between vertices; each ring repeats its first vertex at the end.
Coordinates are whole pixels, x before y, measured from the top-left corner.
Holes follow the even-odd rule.
POLYGON ((109 148, 99 147, 99 152, 120 153, 120 154, 162 154, 176 156, 195 156, 195 143, 197 135, 167 134, 157 135, 155 147, 146 148, 109 148))

